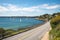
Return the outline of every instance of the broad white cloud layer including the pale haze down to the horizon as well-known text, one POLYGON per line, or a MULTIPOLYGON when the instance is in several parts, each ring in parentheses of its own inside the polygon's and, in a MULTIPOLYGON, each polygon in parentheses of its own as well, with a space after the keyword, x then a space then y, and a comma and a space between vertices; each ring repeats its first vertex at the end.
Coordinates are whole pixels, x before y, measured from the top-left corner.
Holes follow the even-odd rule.
POLYGON ((0 15, 39 15, 39 13, 57 8, 60 8, 60 5, 42 4, 32 7, 20 7, 13 4, 4 4, 4 6, 0 5, 0 15))

